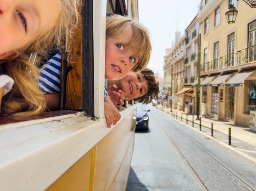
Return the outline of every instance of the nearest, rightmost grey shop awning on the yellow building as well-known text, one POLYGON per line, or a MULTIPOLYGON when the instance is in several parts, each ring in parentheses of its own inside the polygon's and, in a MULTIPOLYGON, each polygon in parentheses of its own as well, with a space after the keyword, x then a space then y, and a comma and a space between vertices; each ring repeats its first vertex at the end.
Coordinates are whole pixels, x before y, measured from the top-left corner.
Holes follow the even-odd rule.
POLYGON ((244 81, 249 75, 251 75, 254 70, 242 70, 235 74, 232 78, 230 78, 225 85, 229 87, 239 86, 242 81, 244 81))

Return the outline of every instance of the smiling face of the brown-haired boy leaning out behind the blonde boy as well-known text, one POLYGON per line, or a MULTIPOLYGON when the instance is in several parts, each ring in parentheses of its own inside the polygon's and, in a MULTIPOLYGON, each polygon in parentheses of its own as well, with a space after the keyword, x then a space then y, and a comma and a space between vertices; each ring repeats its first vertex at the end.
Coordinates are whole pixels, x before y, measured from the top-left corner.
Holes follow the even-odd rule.
POLYGON ((121 89, 124 92, 124 97, 129 99, 141 97, 149 91, 148 82, 140 72, 130 71, 129 74, 119 80, 119 84, 121 87, 118 89, 121 89))

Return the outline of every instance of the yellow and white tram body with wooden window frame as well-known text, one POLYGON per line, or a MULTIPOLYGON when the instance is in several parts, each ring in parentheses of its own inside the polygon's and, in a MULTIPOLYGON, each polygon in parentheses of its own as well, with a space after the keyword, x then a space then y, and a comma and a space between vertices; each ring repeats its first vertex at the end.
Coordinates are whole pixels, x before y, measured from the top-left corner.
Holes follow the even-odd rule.
POLYGON ((117 125, 106 127, 102 63, 106 15, 138 18, 137 0, 82 0, 81 4, 81 12, 91 16, 82 16, 75 37, 81 40, 76 44, 75 67, 66 77, 62 69, 61 81, 66 85, 61 85, 60 110, 29 118, 0 117, 0 190, 126 189, 136 106, 126 101, 117 125), (86 43, 91 46, 84 50, 86 43), (91 57, 85 58, 83 51, 91 57))

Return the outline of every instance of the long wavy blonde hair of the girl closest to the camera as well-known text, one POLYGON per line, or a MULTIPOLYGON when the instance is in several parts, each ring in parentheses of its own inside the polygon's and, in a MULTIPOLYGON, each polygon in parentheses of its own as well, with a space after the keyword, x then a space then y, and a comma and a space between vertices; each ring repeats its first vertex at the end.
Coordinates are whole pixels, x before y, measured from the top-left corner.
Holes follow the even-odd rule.
MULTIPOLYGON (((1 64, 2 73, 12 77, 15 83, 11 91, 2 98, 0 115, 30 116, 46 110, 46 101, 37 86, 38 67, 28 62, 28 55, 37 52, 43 56, 56 45, 66 52, 72 49, 69 42, 79 23, 79 0, 61 0, 61 2, 61 13, 55 26, 20 48, 20 55, 17 58, 1 64)), ((39 60, 40 57, 36 62, 39 60)))

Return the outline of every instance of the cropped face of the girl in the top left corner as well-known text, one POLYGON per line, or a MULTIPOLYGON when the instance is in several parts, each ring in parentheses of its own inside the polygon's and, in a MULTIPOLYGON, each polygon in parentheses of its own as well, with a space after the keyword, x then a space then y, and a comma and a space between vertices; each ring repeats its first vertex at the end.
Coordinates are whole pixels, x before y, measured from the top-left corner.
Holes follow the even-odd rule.
POLYGON ((0 58, 52 28, 61 0, 0 0, 0 58))

